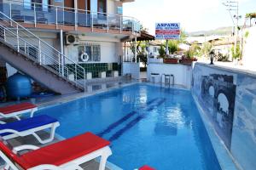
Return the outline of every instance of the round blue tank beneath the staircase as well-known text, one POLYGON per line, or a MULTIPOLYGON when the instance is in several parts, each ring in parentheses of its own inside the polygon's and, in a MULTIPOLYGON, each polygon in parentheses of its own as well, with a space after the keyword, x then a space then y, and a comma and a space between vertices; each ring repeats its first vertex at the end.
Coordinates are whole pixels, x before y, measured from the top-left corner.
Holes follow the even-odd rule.
POLYGON ((11 99, 29 97, 32 94, 32 84, 29 77, 15 73, 7 80, 7 94, 11 99))

